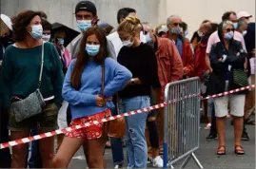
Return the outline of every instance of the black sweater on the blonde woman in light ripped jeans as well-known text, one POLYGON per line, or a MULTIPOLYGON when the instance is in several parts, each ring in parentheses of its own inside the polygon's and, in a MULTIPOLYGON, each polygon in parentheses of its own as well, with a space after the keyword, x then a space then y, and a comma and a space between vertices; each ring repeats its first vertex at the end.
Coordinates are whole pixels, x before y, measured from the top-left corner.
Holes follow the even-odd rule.
POLYGON ((128 85, 120 91, 122 98, 149 96, 151 86, 161 86, 157 74, 156 56, 147 44, 141 44, 138 47, 122 47, 117 61, 128 68, 132 78, 139 78, 142 82, 142 84, 128 85))

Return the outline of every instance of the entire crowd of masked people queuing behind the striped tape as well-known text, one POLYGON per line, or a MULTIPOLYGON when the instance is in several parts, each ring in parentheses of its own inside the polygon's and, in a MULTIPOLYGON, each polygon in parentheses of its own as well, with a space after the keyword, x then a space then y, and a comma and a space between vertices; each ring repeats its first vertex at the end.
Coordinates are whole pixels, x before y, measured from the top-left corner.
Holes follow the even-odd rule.
MULTIPOLYGON (((69 51, 68 32, 53 32, 43 11, 25 10, 11 19, 1 14, 0 142, 163 103, 166 84, 190 77, 200 77, 203 96, 254 84, 251 17, 246 11, 226 11, 221 23, 205 20, 188 39, 188 26, 178 15, 153 27, 142 22, 135 9, 123 8, 113 28, 98 23, 92 2, 81 1, 75 7, 81 34, 69 51), (37 101, 42 102, 40 111, 30 104, 37 101), (26 118, 19 121, 18 113, 26 118)), ((207 140, 218 138, 217 155, 226 155, 228 117, 234 126, 234 153, 245 154, 241 140, 249 140, 245 124, 254 124, 248 116, 254 103, 254 89, 203 101, 207 140)), ((108 137, 104 122, 58 135, 56 150, 54 137, 32 141, 30 160, 29 143, 11 147, 11 155, 9 148, 0 150, 0 167, 68 168, 83 146, 89 168, 105 168, 105 148, 110 146, 114 167, 123 168, 124 145, 128 168, 147 168, 148 162, 163 167, 164 109, 129 116, 124 122, 125 138, 108 137)))

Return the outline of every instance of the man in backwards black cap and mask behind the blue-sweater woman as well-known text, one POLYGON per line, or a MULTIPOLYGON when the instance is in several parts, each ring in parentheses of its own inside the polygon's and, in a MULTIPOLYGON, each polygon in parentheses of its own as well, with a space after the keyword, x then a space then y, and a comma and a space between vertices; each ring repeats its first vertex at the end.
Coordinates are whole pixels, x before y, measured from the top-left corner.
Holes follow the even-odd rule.
MULTIPOLYGON (((80 50, 80 44, 83 39, 83 33, 89 28, 97 26, 99 21, 97 9, 90 1, 80 1, 75 7, 75 18, 77 27, 82 32, 71 42, 71 57, 76 58, 80 50)), ((108 41, 109 57, 116 59, 115 49, 110 41, 108 41)))

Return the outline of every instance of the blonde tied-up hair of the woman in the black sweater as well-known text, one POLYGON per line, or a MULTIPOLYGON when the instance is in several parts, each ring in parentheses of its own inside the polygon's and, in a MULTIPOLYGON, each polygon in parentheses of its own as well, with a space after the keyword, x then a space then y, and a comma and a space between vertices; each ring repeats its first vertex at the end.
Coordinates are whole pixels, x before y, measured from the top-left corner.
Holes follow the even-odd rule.
POLYGON ((117 31, 126 31, 128 33, 140 32, 142 29, 141 21, 133 16, 128 16, 117 28, 117 31))

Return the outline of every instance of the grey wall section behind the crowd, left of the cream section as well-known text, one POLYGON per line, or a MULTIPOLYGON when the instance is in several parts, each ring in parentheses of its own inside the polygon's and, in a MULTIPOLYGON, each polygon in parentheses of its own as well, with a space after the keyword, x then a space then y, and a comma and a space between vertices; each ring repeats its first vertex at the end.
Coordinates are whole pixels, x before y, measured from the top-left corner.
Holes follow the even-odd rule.
MULTIPOLYGON (((158 24, 157 0, 90 0, 98 10, 100 22, 117 26, 117 11, 125 7, 137 10, 142 20, 158 24), (147 9, 146 9, 147 8, 147 9)), ((42 10, 50 22, 60 22, 76 28, 74 9, 79 0, 1 0, 1 13, 12 16, 23 9, 42 10)))

